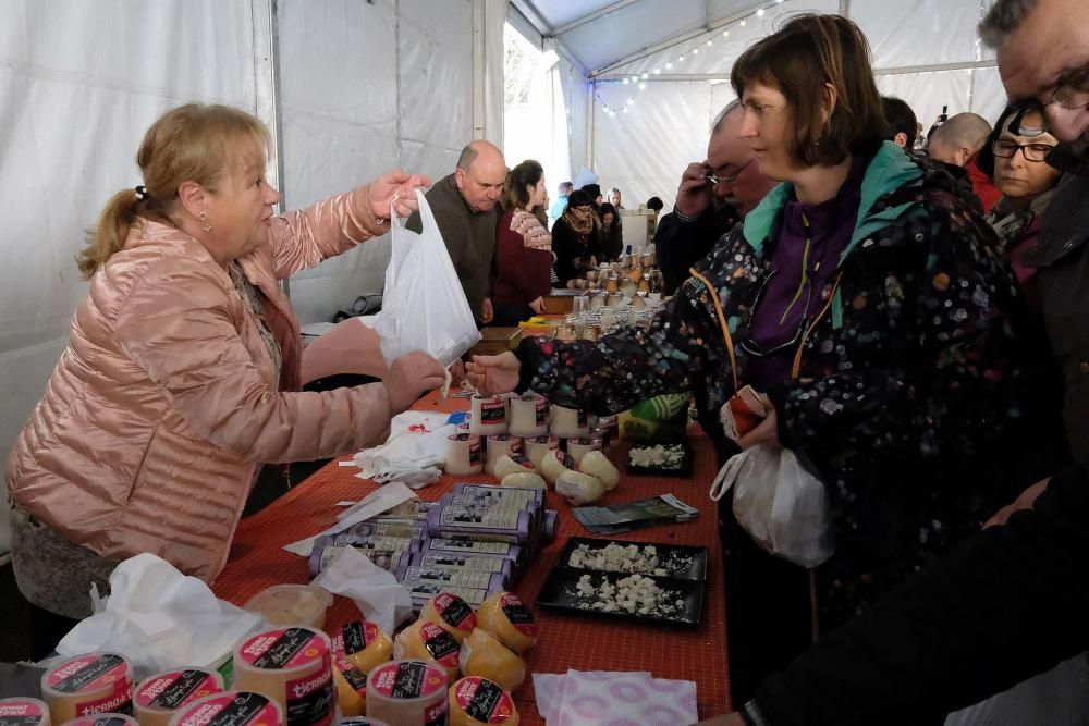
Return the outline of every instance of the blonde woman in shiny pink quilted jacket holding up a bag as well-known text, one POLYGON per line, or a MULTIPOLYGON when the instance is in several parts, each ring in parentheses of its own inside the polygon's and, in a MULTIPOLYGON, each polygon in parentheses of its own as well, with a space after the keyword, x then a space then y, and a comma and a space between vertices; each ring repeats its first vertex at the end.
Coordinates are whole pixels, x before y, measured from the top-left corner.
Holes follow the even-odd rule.
POLYGON ((274 217, 268 132, 188 104, 148 130, 144 184, 107 204, 79 269, 69 345, 8 460, 12 558, 33 604, 90 614, 114 565, 150 552, 211 581, 264 462, 378 443, 442 384, 423 353, 380 383, 298 391, 299 331, 279 280, 386 232, 424 176, 389 173, 274 217))

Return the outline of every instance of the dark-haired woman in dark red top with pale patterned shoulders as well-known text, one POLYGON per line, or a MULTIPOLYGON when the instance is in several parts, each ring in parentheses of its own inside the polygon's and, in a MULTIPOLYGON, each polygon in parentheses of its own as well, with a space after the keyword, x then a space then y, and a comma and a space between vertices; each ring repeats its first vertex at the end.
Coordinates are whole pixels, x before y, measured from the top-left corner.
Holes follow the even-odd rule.
POLYGON ((493 325, 517 325, 544 312, 552 290, 552 235, 540 221, 548 192, 544 169, 527 159, 506 173, 503 216, 495 230, 491 283, 493 325))

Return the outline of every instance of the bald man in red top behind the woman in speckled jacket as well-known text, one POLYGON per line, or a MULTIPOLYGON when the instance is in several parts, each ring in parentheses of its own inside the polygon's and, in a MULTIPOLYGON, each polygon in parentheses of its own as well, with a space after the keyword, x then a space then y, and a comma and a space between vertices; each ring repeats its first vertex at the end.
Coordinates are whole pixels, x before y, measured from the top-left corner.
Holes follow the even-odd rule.
POLYGON ((991 124, 983 116, 957 113, 931 133, 927 145, 930 158, 945 165, 964 198, 980 213, 988 212, 1002 198, 991 177, 976 165, 976 156, 990 134, 991 124))

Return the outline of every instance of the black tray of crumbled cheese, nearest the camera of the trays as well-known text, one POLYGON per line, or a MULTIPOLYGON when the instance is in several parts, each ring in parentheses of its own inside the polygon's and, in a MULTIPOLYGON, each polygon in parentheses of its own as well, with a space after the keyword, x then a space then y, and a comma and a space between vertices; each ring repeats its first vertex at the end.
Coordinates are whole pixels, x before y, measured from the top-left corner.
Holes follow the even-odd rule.
POLYGON ((635 620, 644 623, 657 623, 659 625, 673 625, 683 627, 696 627, 703 606, 703 581, 702 580, 678 580, 670 577, 652 577, 659 588, 666 590, 682 601, 681 607, 668 615, 647 614, 638 612, 628 613, 625 610, 607 613, 594 610, 588 606, 580 606, 580 603, 589 603, 590 599, 578 596, 575 585, 584 575, 590 576, 590 582, 595 588, 600 587, 605 580, 616 583, 628 575, 626 573, 595 573, 584 569, 571 569, 570 567, 554 567, 549 573, 540 592, 537 593, 537 605, 551 610, 567 613, 578 613, 617 620, 635 620))

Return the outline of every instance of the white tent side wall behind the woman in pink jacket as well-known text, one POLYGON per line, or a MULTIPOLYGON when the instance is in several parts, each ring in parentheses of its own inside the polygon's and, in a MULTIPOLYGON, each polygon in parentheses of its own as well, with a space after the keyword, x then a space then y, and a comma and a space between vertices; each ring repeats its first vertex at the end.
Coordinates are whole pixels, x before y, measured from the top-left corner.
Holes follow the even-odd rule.
MULTIPOLYGON (((189 100, 229 103, 282 122, 276 161, 285 208, 397 167, 443 176, 475 128, 502 144, 505 0, 441 7, 436 12, 431 0, 0 0, 4 459, 86 293, 73 260, 83 230, 111 194, 140 181, 136 147, 167 109, 189 100), (475 5, 482 19, 476 34, 475 5), (474 42, 484 45, 479 108, 474 42)), ((388 238, 380 238, 297 275, 291 292, 299 319, 328 319, 356 295, 379 292, 388 256, 388 238)), ((0 507, 0 557, 5 520, 0 507)))

